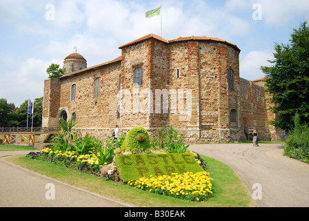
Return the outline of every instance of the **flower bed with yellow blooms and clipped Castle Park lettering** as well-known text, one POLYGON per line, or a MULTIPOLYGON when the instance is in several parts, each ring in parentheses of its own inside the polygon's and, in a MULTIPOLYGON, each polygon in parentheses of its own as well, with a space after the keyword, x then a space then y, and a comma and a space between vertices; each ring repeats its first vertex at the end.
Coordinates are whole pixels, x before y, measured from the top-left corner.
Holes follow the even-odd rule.
MULTIPOLYGON (((170 127, 167 131, 169 134, 167 138, 161 139, 160 142, 157 139, 157 142, 150 143, 148 133, 143 128, 133 129, 131 133, 128 133, 131 136, 126 136, 124 133, 117 140, 111 140, 111 137, 108 137, 105 144, 89 133, 86 133, 85 137, 81 137, 81 134, 77 132, 72 133, 70 139, 64 139, 63 135, 58 134, 54 136, 52 148, 45 148, 37 153, 28 153, 26 157, 52 162, 74 171, 115 181, 119 181, 120 177, 123 180, 123 172, 126 172, 125 167, 135 164, 136 173, 141 176, 129 176, 128 180, 124 182, 128 182, 130 186, 184 200, 207 200, 212 195, 211 181, 213 179, 206 171, 206 162, 201 159, 198 153, 187 150, 189 145, 183 144, 182 135, 170 127), (132 145, 133 143, 135 146, 132 145), (156 150, 156 146, 159 147, 159 150, 153 151, 152 148, 156 150), (136 150, 137 152, 133 154, 129 152, 132 155, 119 157, 120 161, 117 164, 117 157, 114 156, 122 155, 121 151, 124 150, 136 150), (112 165, 114 160, 117 166, 122 165, 123 171, 119 166, 111 174, 101 175, 102 167, 106 164, 112 165), (118 173, 119 170, 121 175, 118 173), (146 174, 146 172, 150 174, 146 174), (146 177, 143 174, 146 174, 146 177)), ((128 173, 133 172, 129 169, 128 173)))

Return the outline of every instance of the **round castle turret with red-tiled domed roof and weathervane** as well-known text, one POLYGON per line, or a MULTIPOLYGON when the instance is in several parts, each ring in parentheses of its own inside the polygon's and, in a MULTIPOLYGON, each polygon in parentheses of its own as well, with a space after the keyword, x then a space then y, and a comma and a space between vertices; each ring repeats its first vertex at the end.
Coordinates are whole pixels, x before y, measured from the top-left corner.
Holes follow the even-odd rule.
POLYGON ((68 57, 66 57, 63 61, 63 70, 65 75, 83 68, 87 68, 87 61, 77 52, 68 55, 68 57))

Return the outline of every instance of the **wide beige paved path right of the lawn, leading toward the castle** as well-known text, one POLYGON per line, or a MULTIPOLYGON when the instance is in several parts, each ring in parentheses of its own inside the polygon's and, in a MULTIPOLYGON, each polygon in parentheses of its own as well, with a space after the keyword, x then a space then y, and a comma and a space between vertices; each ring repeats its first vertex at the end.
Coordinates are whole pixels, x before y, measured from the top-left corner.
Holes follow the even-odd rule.
POLYGON ((309 164, 283 156, 282 144, 192 144, 190 151, 228 164, 257 206, 309 206, 309 164), (257 186, 252 186, 257 184, 257 186))

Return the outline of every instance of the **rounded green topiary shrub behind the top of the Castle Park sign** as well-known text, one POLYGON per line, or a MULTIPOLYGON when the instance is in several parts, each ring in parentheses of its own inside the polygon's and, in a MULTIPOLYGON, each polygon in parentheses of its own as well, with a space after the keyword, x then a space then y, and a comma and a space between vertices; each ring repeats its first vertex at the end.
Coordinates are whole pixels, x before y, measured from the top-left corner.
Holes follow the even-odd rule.
POLYGON ((128 135, 126 136, 126 151, 127 152, 139 152, 146 151, 150 149, 150 140, 148 132, 142 126, 137 126, 130 131, 128 131, 128 135), (143 140, 138 140, 137 135, 142 135, 143 140))

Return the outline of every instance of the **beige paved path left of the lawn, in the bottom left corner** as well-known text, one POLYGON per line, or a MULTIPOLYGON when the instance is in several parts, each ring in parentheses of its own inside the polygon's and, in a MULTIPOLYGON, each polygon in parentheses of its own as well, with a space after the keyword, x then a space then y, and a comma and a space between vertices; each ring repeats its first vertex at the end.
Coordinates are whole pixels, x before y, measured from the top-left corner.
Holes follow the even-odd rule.
POLYGON ((0 151, 0 207, 129 206, 1 160, 1 157, 6 155, 26 155, 27 153, 24 151, 0 151), (52 200, 53 188, 54 200, 52 200), (47 200, 46 197, 50 200, 47 200))

